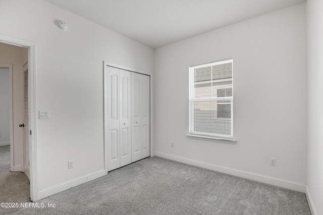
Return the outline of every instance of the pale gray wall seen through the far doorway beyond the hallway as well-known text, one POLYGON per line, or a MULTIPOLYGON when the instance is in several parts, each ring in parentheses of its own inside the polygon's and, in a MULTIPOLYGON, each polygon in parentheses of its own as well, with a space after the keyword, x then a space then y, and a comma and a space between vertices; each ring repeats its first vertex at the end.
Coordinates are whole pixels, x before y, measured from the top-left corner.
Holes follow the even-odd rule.
POLYGON ((9 68, 0 68, 0 146, 10 145, 9 68))

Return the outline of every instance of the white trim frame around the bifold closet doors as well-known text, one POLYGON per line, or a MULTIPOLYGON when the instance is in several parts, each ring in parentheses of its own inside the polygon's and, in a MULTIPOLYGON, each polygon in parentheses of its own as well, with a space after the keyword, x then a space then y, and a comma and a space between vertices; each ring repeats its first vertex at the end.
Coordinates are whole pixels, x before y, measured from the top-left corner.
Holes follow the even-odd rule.
POLYGON ((118 64, 114 64, 114 63, 110 63, 110 62, 107 62, 107 61, 103 61, 103 113, 104 113, 104 120, 103 120, 103 134, 104 134, 104 138, 103 138, 103 149, 104 149, 104 170, 105 170, 105 175, 107 174, 107 149, 106 149, 106 146, 105 146, 105 122, 107 120, 107 116, 106 116, 106 113, 105 113, 105 107, 104 107, 104 104, 106 102, 106 96, 104 95, 105 93, 105 82, 104 82, 104 69, 105 69, 105 66, 106 65, 109 65, 109 66, 113 66, 113 67, 116 67, 116 68, 121 68, 121 69, 125 69, 125 70, 128 70, 128 71, 134 71, 135 73, 141 73, 141 74, 144 74, 144 75, 147 75, 147 76, 150 76, 150 157, 153 157, 153 109, 152 109, 152 95, 153 95, 153 77, 152 77, 152 74, 151 73, 146 73, 144 71, 139 71, 137 69, 133 69, 133 68, 127 68, 125 66, 121 66, 121 65, 118 65, 118 64))

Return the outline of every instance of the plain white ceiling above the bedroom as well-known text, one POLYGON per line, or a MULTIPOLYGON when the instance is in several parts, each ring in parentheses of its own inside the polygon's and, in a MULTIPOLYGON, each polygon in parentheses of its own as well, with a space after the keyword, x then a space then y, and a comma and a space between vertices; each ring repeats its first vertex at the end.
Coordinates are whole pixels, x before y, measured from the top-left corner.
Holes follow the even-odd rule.
MULTIPOLYGON (((44 0, 158 48, 306 0, 44 0)), ((68 24, 68 23, 67 23, 68 24)))

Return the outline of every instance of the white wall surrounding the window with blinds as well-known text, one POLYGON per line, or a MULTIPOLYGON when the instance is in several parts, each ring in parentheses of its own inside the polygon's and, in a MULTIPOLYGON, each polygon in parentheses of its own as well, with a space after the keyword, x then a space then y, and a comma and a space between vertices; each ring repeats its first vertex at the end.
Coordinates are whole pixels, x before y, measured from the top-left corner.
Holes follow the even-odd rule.
POLYGON ((305 30, 301 4, 156 49, 155 155, 292 181, 305 191, 305 30), (237 144, 187 138, 188 67, 227 58, 234 59, 237 144))

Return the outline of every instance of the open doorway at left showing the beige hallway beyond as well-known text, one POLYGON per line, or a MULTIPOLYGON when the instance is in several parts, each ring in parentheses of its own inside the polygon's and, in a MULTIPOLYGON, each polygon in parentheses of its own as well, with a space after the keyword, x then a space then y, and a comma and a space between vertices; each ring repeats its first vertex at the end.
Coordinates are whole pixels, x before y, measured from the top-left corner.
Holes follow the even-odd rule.
POLYGON ((15 199, 28 202, 29 172, 23 165, 28 150, 24 147, 23 129, 18 126, 23 121, 24 108, 28 110, 22 98, 22 70, 28 61, 28 48, 0 43, 0 50, 0 179, 6 179, 1 180, 1 186, 5 193, 15 193, 15 199))

